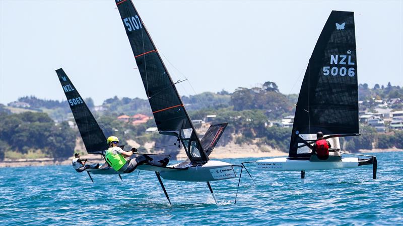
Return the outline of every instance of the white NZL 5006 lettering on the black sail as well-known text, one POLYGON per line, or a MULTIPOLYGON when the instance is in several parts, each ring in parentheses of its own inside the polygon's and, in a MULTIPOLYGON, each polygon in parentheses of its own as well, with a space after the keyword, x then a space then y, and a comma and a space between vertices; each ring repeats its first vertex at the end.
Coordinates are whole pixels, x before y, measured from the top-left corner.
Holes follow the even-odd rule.
POLYGON ((347 51, 348 55, 330 55, 330 65, 323 66, 322 73, 327 76, 331 74, 332 76, 340 75, 350 77, 355 76, 355 68, 350 65, 355 65, 351 57, 351 51, 347 51), (334 66, 333 66, 334 65, 334 66), (346 65, 346 66, 344 66, 346 65), (350 66, 350 67, 349 67, 350 66))

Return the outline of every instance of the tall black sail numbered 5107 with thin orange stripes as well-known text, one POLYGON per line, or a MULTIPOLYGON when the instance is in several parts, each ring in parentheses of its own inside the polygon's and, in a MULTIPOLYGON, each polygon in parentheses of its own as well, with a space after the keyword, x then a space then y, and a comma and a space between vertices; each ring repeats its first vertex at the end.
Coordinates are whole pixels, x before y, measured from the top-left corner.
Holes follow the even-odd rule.
POLYGON ((192 162, 207 161, 191 120, 162 59, 130 0, 115 0, 143 80, 157 128, 181 139, 192 162))

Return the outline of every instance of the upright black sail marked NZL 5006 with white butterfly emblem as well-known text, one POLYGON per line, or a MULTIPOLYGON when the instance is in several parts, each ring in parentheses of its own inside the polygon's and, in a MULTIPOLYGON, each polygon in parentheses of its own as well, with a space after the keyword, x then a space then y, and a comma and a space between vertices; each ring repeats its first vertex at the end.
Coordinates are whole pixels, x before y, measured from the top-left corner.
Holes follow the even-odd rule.
POLYGON ((355 134, 358 83, 353 12, 332 11, 309 60, 295 110, 289 157, 298 154, 298 136, 355 134))

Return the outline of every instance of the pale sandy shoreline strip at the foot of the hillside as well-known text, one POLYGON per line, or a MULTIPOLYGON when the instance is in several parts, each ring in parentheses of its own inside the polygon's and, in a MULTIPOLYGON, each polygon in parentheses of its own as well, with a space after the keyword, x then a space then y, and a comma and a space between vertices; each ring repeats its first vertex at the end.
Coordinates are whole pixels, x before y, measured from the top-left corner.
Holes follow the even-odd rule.
MULTIPOLYGON (((237 159, 237 158, 262 158, 262 157, 280 157, 280 156, 287 156, 288 153, 281 152, 279 150, 271 150, 269 152, 262 152, 256 150, 249 150, 251 152, 244 152, 242 149, 241 151, 235 150, 234 152, 219 150, 221 148, 217 148, 215 150, 216 153, 212 153, 210 158, 211 159, 237 159)), ((372 149, 372 150, 360 150, 359 153, 382 153, 382 152, 403 152, 403 149, 372 149)), ((182 154, 183 155, 183 154, 182 154)), ((181 156, 177 156, 176 160, 184 160, 181 156)), ((92 163, 104 163, 98 155, 83 155, 83 159, 88 159, 88 161, 92 163)), ((72 164, 73 157, 66 159, 66 160, 56 160, 53 158, 40 158, 40 159, 6 159, 3 162, 0 162, 0 168, 5 167, 26 167, 26 166, 52 166, 52 165, 70 165, 72 164)))

